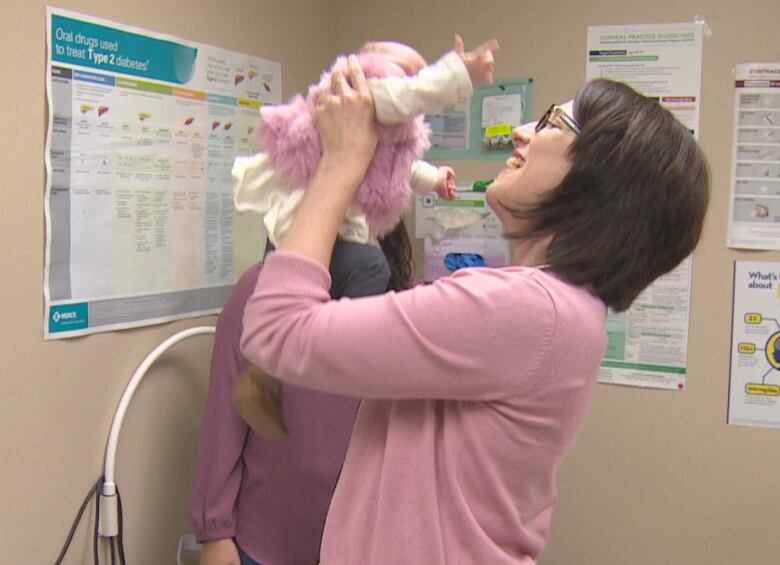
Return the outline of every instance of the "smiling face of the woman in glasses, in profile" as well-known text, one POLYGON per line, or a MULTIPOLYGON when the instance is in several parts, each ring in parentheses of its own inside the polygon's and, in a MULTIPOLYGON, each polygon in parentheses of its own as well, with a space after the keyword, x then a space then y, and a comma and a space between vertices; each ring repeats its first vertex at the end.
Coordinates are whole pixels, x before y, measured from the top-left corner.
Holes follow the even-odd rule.
MULTIPOLYGON (((572 102, 561 105, 569 116, 573 116, 572 107, 572 102)), ((510 233, 527 221, 513 217, 510 210, 538 203, 571 168, 568 149, 577 134, 556 117, 538 132, 536 123, 523 124, 512 132, 512 156, 486 192, 488 204, 510 233)))

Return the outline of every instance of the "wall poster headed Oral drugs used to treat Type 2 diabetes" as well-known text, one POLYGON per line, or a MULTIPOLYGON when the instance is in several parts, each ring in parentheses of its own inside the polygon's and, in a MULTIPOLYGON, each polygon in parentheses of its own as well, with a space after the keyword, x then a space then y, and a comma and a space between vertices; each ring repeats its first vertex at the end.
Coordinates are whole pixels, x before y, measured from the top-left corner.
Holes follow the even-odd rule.
POLYGON ((281 66, 54 8, 46 24, 44 337, 218 312, 230 171, 281 66))

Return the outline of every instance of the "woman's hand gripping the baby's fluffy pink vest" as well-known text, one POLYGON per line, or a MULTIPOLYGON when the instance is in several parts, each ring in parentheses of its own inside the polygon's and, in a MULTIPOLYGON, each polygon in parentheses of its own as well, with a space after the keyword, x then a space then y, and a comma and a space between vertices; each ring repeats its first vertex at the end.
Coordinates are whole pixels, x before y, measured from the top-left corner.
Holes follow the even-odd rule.
POLYGON ((374 99, 356 56, 348 59, 349 82, 340 72, 331 75, 331 94, 314 109, 314 123, 322 143, 322 160, 347 167, 363 179, 377 144, 374 99))

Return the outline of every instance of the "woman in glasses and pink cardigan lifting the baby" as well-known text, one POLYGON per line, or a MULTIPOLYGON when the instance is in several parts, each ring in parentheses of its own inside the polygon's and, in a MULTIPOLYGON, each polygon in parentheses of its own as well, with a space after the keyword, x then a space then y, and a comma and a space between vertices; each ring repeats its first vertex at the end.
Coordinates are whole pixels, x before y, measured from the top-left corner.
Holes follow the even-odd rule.
POLYGON ((244 355, 363 399, 321 563, 531 564, 555 477, 627 308, 695 247, 709 175, 693 137, 625 85, 586 84, 515 131, 487 191, 511 265, 329 299, 338 225, 376 145, 355 59, 315 111, 323 155, 244 314, 244 355))

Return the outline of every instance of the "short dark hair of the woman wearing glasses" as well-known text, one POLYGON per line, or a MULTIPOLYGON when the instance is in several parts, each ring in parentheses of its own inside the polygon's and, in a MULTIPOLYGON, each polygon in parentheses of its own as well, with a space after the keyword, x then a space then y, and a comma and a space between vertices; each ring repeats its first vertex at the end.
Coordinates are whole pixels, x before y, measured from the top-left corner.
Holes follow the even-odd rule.
POLYGON ((513 238, 552 235, 549 270, 627 309, 699 241, 710 192, 707 161, 691 132, 656 101, 606 79, 574 99, 582 131, 572 166, 513 238))

